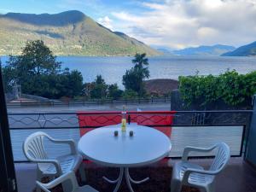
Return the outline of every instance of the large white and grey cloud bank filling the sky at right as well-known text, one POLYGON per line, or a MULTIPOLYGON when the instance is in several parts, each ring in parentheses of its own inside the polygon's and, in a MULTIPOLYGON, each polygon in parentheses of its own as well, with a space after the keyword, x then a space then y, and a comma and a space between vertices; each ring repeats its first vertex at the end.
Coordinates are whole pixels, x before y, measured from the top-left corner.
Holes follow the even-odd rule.
POLYGON ((141 6, 145 9, 137 15, 125 9, 112 12, 113 28, 173 49, 256 40, 256 0, 166 0, 141 6))

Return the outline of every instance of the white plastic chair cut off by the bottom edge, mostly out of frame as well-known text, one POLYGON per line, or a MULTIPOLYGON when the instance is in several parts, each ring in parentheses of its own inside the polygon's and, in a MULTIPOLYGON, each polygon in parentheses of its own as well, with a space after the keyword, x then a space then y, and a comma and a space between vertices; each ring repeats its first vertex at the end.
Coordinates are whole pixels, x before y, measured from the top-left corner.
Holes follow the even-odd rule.
POLYGON ((37 181, 37 185, 38 185, 38 188, 43 189, 44 192, 50 192, 49 189, 54 188, 60 183, 67 182, 68 180, 71 181, 71 185, 72 185, 69 192, 98 192, 96 189, 93 189, 92 187, 90 187, 90 185, 84 185, 82 187, 79 187, 79 184, 77 182, 74 172, 67 172, 66 174, 62 175, 61 177, 57 177, 55 180, 49 183, 41 183, 37 181))

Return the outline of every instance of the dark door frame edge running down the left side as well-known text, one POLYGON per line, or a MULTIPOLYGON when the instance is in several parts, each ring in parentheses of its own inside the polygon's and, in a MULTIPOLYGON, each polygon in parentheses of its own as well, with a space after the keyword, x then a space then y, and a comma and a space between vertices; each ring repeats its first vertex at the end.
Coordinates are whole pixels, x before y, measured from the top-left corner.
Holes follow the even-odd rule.
POLYGON ((18 190, 0 64, 0 192, 15 191, 18 190))

